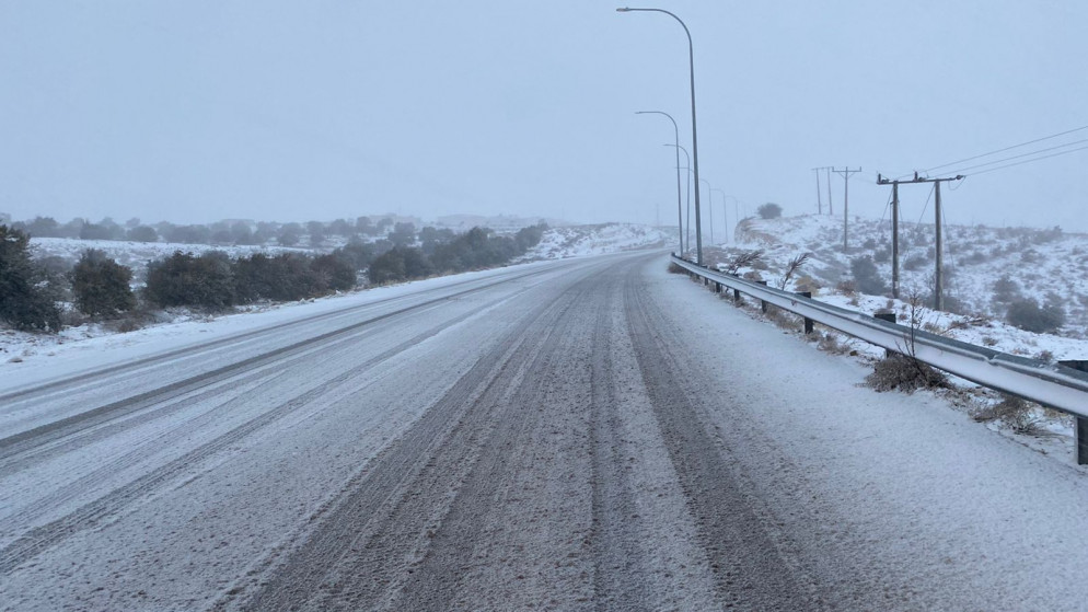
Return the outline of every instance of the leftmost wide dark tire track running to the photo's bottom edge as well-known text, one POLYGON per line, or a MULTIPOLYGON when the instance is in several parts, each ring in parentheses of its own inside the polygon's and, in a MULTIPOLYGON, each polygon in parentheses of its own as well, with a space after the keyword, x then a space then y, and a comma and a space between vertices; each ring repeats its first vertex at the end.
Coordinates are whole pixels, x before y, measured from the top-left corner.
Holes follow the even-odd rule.
MULTIPOLYGON (((392 605, 408 581, 426 591, 428 600, 438 593, 448 596, 448 569, 428 559, 461 554, 460 546, 449 546, 451 538, 473 539, 475 532, 462 522, 478 519, 483 509, 476 507, 456 519, 449 512, 462 499, 461 492, 471 488, 470 471, 479 474, 474 466, 481 446, 488 440, 501 443, 493 420, 504 395, 520 386, 543 347, 558 337, 555 323, 571 303, 570 296, 563 295, 536 307, 348 484, 346 494, 323 512, 321 524, 270 570, 258 589, 238 599, 229 596, 216 609, 382 609, 392 605), (439 550, 428 550, 431 546, 439 550)), ((522 426, 517 420, 507 419, 505 425, 522 426)), ((479 481, 478 475, 475 478, 479 481)), ((424 609, 445 609, 448 599, 438 597, 424 609)), ((402 603, 396 608, 420 609, 402 603)))

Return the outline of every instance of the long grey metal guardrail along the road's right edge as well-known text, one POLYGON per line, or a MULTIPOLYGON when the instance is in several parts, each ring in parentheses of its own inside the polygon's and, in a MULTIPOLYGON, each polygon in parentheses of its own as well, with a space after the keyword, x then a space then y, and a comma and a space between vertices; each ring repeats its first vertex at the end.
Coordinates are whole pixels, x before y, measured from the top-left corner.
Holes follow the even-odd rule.
POLYGON ((722 287, 728 287, 736 297, 741 293, 751 296, 807 321, 814 321, 891 351, 907 353, 908 347, 913 346, 913 356, 934 368, 1070 414, 1077 417, 1075 430, 1078 463, 1088 463, 1088 435, 1085 435, 1088 432, 1088 372, 1017 357, 923 330, 912 330, 798 293, 715 272, 675 255, 671 256, 671 261, 691 275, 703 278, 704 284, 715 284, 718 292, 722 287))

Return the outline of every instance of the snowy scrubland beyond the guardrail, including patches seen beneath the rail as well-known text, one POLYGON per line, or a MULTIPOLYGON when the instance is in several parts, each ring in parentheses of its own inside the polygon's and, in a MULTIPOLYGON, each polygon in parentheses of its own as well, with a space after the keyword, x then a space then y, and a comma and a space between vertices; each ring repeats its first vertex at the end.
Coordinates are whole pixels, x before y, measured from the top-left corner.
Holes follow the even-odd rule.
MULTIPOLYGON (((933 308, 931 224, 900 226, 898 299, 891 290, 888 220, 852 218, 844 250, 841 217, 749 218, 738 223, 733 242, 705 247, 704 257, 711 267, 749 279, 810 291, 817 300, 866 314, 892 312, 900 324, 994 350, 1048 362, 1088 358, 1088 235, 1058 228, 944 230, 942 311, 933 308), (803 263, 787 274, 800 257, 803 263)), ((815 337, 825 350, 873 365, 884 356, 882 349, 835 333, 818 331, 815 337)), ((939 393, 980 420, 1032 436, 1033 446, 1046 444, 1039 436, 1072 443, 1072 419, 1054 411, 956 378, 939 393)))

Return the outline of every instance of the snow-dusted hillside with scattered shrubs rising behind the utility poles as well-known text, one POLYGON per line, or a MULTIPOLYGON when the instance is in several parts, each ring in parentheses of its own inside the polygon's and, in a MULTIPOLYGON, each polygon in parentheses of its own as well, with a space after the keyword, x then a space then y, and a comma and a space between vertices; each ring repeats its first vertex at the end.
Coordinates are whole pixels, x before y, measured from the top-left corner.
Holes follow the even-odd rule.
MULTIPOLYGON (((1065 315, 1057 334, 1088 337, 1088 235, 1060 228, 946 226, 944 243, 946 310, 1005 321, 1018 302, 1051 304, 1065 315)), ((798 281, 815 285, 815 297, 841 295, 852 281, 858 286, 852 274, 852 262, 858 258, 871 259, 876 279, 891 286, 890 220, 852 218, 849 250, 844 252, 841 217, 749 218, 737 224, 733 243, 705 247, 704 256, 710 265, 724 266, 738 254, 755 250, 763 252, 762 262, 741 272, 772 285, 790 258, 809 253, 810 261, 790 288, 798 281)), ((901 298, 914 295, 931 304, 935 254, 933 224, 900 223, 901 298)), ((858 289, 876 297, 891 296, 890 290, 858 289)), ((1088 351, 1081 358, 1088 358, 1088 351)))

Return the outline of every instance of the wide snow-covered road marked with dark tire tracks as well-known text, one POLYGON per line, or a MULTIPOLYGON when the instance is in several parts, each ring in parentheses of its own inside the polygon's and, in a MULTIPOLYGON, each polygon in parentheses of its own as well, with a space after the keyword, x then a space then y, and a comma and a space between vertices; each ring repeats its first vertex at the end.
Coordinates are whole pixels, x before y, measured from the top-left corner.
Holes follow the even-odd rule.
POLYGON ((2 610, 1076 610, 1088 483, 661 255, 0 389, 2 610))

